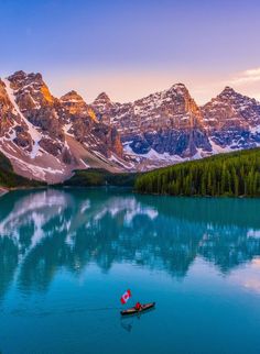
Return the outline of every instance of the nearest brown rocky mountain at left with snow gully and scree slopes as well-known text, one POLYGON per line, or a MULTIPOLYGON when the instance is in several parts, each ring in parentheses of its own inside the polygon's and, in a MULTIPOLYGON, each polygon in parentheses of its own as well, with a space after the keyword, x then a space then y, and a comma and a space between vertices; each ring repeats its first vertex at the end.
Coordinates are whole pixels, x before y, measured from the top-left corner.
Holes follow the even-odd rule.
POLYGON ((18 71, 0 80, 0 150, 18 173, 50 182, 89 166, 86 156, 122 168, 117 130, 99 122, 75 91, 53 97, 41 74, 18 71))

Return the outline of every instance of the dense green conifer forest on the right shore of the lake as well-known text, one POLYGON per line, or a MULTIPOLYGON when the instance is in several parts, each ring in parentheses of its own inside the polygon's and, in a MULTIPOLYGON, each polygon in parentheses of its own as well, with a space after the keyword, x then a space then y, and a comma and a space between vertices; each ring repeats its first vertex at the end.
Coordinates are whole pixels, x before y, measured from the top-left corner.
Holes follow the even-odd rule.
POLYGON ((137 178, 136 190, 172 196, 260 196, 260 148, 160 168, 137 178))

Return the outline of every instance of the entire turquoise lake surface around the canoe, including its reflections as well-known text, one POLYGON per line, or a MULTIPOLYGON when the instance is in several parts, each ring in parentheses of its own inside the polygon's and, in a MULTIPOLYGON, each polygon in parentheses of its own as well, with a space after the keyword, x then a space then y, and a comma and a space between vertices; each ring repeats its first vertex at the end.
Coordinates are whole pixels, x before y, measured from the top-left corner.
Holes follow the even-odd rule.
POLYGON ((0 353, 259 354, 259 331, 260 200, 0 198, 0 353), (156 309, 121 319, 128 288, 156 309))

